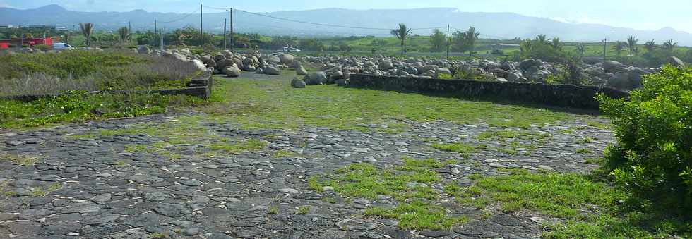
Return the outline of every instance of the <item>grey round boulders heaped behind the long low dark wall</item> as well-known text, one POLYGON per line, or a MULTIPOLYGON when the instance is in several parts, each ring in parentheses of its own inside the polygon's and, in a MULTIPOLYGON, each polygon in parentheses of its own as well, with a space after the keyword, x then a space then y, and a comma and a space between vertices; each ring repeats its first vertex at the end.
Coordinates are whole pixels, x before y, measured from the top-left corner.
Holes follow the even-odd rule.
MULTIPOLYGON (((465 75, 475 75, 476 78, 494 79, 499 82, 537 83, 547 82, 551 76, 561 76, 565 73, 559 64, 544 62, 540 59, 513 62, 487 59, 449 61, 424 57, 397 59, 386 56, 305 56, 298 61, 309 62, 320 68, 320 71, 316 73, 306 73, 304 68, 297 68, 297 73, 306 74, 304 79, 306 85, 331 83, 347 85, 349 75, 353 73, 439 78, 443 74, 456 75, 458 71, 465 71, 465 75)), ((684 63, 674 56, 669 58, 668 63, 684 66, 684 63)), ((576 71, 581 73, 581 77, 589 81, 590 85, 631 90, 641 86, 643 75, 655 73, 660 69, 626 66, 617 61, 603 61, 595 64, 581 63, 576 71)))

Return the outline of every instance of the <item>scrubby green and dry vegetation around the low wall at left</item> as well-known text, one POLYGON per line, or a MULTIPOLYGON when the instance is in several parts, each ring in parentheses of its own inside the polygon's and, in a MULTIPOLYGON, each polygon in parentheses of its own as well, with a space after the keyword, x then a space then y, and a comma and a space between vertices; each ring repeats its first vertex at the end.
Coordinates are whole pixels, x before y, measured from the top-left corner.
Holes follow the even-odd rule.
POLYGON ((162 113, 169 107, 204 104, 188 96, 145 90, 185 87, 198 73, 188 63, 121 51, 0 56, 0 127, 32 127, 96 118, 162 113), (142 91, 90 93, 94 91, 142 91), (56 95, 40 99, 7 98, 56 95))

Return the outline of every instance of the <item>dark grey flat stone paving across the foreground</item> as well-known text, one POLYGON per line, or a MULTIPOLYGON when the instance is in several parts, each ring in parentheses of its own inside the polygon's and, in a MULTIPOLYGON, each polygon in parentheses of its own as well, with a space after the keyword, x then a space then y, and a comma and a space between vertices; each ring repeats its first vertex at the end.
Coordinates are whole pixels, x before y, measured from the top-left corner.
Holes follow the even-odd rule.
MULTIPOLYGON (((402 231, 390 219, 365 219, 366 207, 393 204, 390 200, 344 200, 333 192, 318 194, 306 178, 354 162, 378 166, 400 164, 403 157, 463 159, 441 168, 445 181, 470 185, 473 173, 496 175, 496 168, 526 168, 586 172, 595 166, 612 142, 607 130, 583 122, 530 128, 552 135, 537 149, 510 155, 492 149, 494 142, 478 142, 488 125, 458 125, 445 121, 402 122, 401 133, 304 127, 296 130, 242 130, 234 123, 203 123, 208 130, 231 138, 267 140, 268 147, 227 157, 204 157, 196 142, 177 147, 183 155, 129 153, 126 145, 150 145, 150 135, 114 135, 76 138, 69 135, 119 129, 143 123, 164 123, 179 115, 146 116, 63 125, 51 129, 0 132, 0 153, 37 155, 34 166, 0 161, 0 238, 150 238, 153 233, 172 238, 536 238, 540 215, 502 214, 474 219, 451 231, 402 231), (563 130, 572 128, 573 133, 563 130), (267 137, 272 136, 272 137, 267 137), (578 144, 585 137, 592 142, 578 144), (458 153, 430 147, 441 142, 487 144, 488 149, 464 159, 458 153), (587 154, 577 153, 587 148, 587 154), (271 157, 278 149, 290 157, 271 157), (59 186, 59 187, 56 187, 59 186), (40 190, 59 188, 42 196, 40 190), (323 201, 336 197, 337 202, 323 201), (306 214, 297 207, 309 205, 306 214), (278 207, 277 214, 270 208, 278 207)), ((601 119, 599 119, 600 121, 601 119)), ((495 143, 496 144, 496 143, 495 143)), ((583 153, 583 152, 582 152, 583 153)), ((441 189, 442 184, 431 185, 441 189)), ((453 214, 477 214, 453 207, 453 214)))

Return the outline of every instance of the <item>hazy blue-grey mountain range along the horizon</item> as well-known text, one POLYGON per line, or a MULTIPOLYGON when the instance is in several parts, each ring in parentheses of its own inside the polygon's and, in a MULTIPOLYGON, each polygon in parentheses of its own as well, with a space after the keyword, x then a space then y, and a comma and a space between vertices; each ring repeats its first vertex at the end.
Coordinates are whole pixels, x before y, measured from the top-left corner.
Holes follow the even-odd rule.
MULTIPOLYGON (((203 9, 203 11, 209 11, 203 9)), ((217 11, 217 10, 216 10, 217 11)), ((325 8, 307 11, 278 11, 260 13, 259 16, 244 11, 234 11, 234 30, 244 33, 263 35, 294 36, 350 36, 375 35, 389 36, 389 31, 398 23, 406 23, 420 35, 429 35, 434 27, 446 30, 451 25, 455 29, 465 30, 474 26, 482 33, 482 38, 513 39, 514 37, 533 38, 539 34, 548 37, 560 37, 568 42, 600 42, 607 38, 609 42, 624 40, 634 35, 645 42, 655 39, 662 43, 673 39, 681 45, 692 46, 692 34, 664 27, 660 30, 635 30, 626 27, 612 27, 599 24, 563 23, 548 18, 523 16, 516 13, 470 13, 456 8, 417 8, 417 9, 374 9, 349 10, 325 8), (269 16, 269 17, 268 17, 269 16), (270 18, 273 17, 273 18, 270 18), (351 26, 355 28, 310 25, 302 22, 321 23, 325 25, 351 26), (366 29, 381 28, 381 29, 366 29)), ((228 13, 203 13, 205 30, 221 32, 224 18, 228 13)), ((20 10, 0 8, 0 25, 59 25, 72 29, 80 22, 95 23, 97 30, 115 30, 132 24, 133 30, 153 30, 154 20, 158 27, 174 29, 185 26, 199 27, 199 13, 150 13, 143 10, 129 12, 78 12, 68 11, 58 5, 20 10), (166 23, 173 21, 172 23, 166 23)))

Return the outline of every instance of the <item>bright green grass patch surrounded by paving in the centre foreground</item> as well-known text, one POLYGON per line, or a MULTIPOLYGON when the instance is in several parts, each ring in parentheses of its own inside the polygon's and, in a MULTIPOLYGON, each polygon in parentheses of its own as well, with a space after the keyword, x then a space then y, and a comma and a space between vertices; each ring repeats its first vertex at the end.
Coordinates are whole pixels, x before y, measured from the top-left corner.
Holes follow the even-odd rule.
POLYGON ((363 197, 375 200, 378 197, 393 197, 398 204, 393 208, 372 207, 364 216, 396 219, 404 229, 448 229, 465 223, 464 216, 449 215, 437 205, 441 195, 431 189, 432 183, 442 179, 434 171, 452 161, 436 159, 404 159, 404 163, 393 168, 376 168, 372 164, 351 164, 340 168, 325 180, 309 178, 310 188, 321 190, 333 187, 335 192, 347 197, 363 197))

